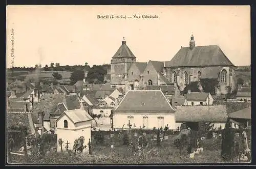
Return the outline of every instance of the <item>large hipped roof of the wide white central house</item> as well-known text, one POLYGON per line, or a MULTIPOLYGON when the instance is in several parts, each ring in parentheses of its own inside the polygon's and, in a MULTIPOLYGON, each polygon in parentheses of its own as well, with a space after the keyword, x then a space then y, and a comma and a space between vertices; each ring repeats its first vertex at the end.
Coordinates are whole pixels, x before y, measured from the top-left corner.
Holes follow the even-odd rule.
POLYGON ((130 90, 115 111, 174 112, 174 108, 160 90, 130 90))

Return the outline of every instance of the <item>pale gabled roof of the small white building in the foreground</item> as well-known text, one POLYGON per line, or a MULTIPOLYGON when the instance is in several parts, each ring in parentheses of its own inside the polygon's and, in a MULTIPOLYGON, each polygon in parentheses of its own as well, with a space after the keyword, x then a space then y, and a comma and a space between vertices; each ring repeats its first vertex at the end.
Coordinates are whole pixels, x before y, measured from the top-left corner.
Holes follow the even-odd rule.
MULTIPOLYGON (((71 119, 73 123, 93 120, 93 118, 84 109, 67 110, 64 112, 71 119)), ((60 118, 58 118, 56 121, 58 121, 60 118)))

